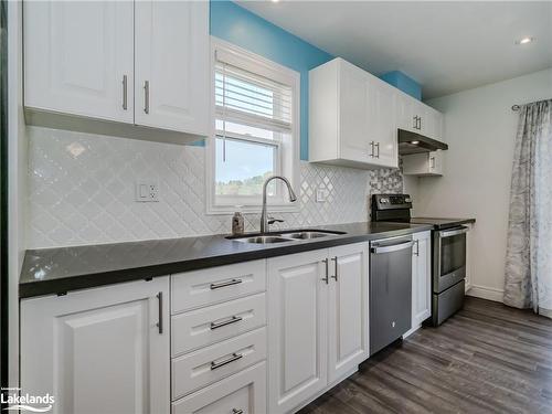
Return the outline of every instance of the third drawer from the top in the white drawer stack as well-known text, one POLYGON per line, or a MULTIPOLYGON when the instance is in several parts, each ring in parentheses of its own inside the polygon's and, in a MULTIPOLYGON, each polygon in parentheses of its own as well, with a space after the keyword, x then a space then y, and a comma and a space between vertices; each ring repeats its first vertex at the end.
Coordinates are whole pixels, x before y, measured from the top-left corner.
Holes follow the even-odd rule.
POLYGON ((181 397, 266 358, 266 328, 172 360, 172 397, 181 397))

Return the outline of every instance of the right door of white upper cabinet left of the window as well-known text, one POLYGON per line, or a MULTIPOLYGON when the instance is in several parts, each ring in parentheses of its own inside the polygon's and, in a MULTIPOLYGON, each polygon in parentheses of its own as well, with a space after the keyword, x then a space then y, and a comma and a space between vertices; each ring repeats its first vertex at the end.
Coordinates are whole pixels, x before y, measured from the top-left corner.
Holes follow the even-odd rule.
POLYGON ((206 136, 209 2, 136 2, 136 124, 206 136))

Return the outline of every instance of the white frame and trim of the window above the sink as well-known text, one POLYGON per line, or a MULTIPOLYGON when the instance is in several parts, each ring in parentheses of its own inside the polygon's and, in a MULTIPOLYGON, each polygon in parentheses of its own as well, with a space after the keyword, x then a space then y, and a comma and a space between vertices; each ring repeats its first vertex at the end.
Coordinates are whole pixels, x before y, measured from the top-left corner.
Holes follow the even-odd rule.
MULTIPOLYGON (((230 214, 242 205, 244 213, 259 213, 262 205, 261 197, 224 197, 223 203, 216 203, 215 198, 215 164, 216 164, 216 129, 215 129, 215 56, 216 51, 221 51, 232 59, 240 62, 240 67, 250 72, 259 74, 267 78, 282 82, 289 85, 293 89, 293 120, 291 120, 291 144, 284 146, 279 141, 273 141, 251 136, 240 136, 237 134, 229 135, 226 139, 242 139, 258 144, 267 144, 278 147, 275 159, 275 173, 285 176, 291 183, 297 195, 299 188, 299 148, 300 148, 300 74, 286 66, 279 65, 255 53, 233 45, 229 42, 211 36, 211 134, 205 140, 206 162, 205 162, 205 183, 206 183, 206 213, 208 214, 230 214), (289 157, 289 159, 288 159, 289 157), (287 168, 285 166, 288 166, 287 168)), ((287 198, 287 190, 277 183, 277 192, 268 198, 270 212, 297 212, 299 202, 290 203, 287 198)))

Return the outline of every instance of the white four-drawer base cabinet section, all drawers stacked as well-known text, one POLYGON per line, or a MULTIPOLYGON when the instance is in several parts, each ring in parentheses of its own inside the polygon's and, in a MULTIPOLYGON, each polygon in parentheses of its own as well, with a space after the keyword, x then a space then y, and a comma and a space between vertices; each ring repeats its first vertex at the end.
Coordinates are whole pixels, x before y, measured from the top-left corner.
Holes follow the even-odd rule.
POLYGON ((266 261, 171 276, 172 414, 266 413, 266 261))

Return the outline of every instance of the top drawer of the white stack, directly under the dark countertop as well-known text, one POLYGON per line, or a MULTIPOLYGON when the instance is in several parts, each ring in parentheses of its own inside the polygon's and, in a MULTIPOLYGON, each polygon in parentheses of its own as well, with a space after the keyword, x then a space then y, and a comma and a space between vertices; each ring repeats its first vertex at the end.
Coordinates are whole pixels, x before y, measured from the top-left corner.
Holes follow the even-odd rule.
POLYGON ((264 291, 266 262, 254 261, 171 276, 172 314, 264 291))

